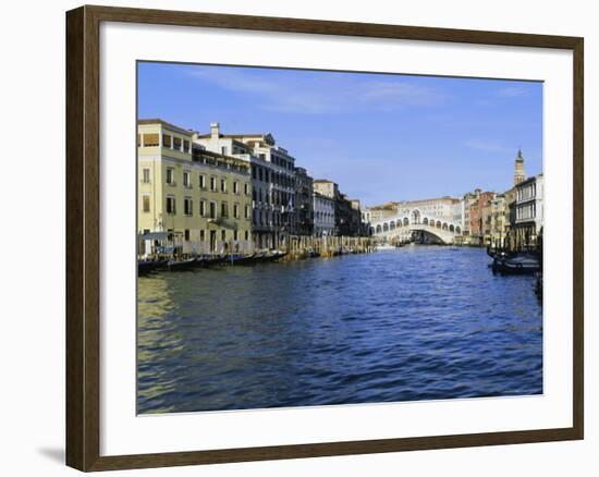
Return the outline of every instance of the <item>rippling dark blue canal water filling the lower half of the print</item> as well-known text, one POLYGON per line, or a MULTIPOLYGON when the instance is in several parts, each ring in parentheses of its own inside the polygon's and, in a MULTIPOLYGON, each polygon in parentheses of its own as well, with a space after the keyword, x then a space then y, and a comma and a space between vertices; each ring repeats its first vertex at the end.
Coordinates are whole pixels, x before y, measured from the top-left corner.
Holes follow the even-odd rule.
POLYGON ((138 281, 138 412, 542 392, 530 277, 477 248, 164 272, 138 281))

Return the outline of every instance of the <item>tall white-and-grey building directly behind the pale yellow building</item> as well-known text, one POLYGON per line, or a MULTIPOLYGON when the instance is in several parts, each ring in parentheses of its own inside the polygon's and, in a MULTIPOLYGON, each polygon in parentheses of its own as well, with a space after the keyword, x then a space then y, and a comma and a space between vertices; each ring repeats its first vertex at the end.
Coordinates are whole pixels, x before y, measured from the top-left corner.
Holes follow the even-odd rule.
POLYGON ((211 123, 210 134, 197 135, 195 142, 250 164, 254 242, 259 248, 283 247, 297 232, 295 158, 271 134, 222 134, 219 123, 211 123))

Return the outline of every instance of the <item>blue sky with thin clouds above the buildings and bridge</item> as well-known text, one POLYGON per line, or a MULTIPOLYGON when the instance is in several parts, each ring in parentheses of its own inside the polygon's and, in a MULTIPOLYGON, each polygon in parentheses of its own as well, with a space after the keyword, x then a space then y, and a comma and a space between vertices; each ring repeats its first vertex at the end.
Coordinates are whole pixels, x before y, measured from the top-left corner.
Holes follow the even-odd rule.
POLYGON ((315 179, 365 205, 512 184, 542 172, 542 84, 139 63, 138 117, 271 133, 315 179))

